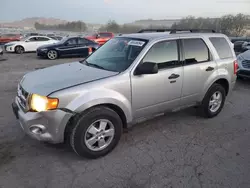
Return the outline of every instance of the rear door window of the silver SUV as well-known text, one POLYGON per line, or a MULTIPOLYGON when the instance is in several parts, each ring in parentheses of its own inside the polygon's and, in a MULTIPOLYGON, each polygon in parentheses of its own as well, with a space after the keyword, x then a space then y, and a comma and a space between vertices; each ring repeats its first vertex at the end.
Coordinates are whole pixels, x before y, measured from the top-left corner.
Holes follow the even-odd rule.
POLYGON ((210 60, 209 49, 202 39, 183 39, 183 51, 186 65, 210 60))

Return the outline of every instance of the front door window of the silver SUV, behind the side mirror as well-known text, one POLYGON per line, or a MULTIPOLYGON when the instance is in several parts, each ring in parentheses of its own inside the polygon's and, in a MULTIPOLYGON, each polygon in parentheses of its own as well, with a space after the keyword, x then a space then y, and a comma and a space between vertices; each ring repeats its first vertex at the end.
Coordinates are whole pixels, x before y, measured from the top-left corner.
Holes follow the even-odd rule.
POLYGON ((164 41, 153 45, 143 58, 143 62, 157 63, 159 69, 176 66, 179 63, 177 41, 164 41))

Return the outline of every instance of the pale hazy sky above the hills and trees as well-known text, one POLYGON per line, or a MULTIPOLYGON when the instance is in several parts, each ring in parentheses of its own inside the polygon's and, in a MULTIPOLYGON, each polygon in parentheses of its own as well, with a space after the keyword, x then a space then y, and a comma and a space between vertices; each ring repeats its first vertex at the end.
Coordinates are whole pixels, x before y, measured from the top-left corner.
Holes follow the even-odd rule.
POLYGON ((250 0, 0 0, 0 21, 53 17, 106 23, 138 19, 176 19, 188 15, 218 17, 250 14, 250 0))

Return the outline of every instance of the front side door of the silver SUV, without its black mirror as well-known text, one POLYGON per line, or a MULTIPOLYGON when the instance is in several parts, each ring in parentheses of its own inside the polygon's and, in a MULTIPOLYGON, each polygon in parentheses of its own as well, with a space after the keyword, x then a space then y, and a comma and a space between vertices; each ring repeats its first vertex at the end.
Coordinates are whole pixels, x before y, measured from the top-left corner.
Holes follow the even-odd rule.
POLYGON ((158 114, 180 104, 183 66, 180 63, 179 44, 177 39, 167 40, 155 43, 149 49, 141 63, 157 63, 158 73, 131 73, 134 118, 158 114))

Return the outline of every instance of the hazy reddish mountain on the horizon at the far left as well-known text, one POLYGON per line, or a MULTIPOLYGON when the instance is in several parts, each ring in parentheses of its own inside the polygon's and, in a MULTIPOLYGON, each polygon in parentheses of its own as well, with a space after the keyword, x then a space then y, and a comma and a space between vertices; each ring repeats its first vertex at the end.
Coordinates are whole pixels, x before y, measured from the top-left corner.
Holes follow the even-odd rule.
POLYGON ((56 18, 32 17, 32 18, 25 18, 25 19, 19 20, 19 21, 0 23, 0 25, 1 25, 1 27, 34 28, 34 25, 36 22, 38 22, 40 24, 45 24, 45 25, 57 25, 57 24, 65 24, 68 21, 56 19, 56 18))

